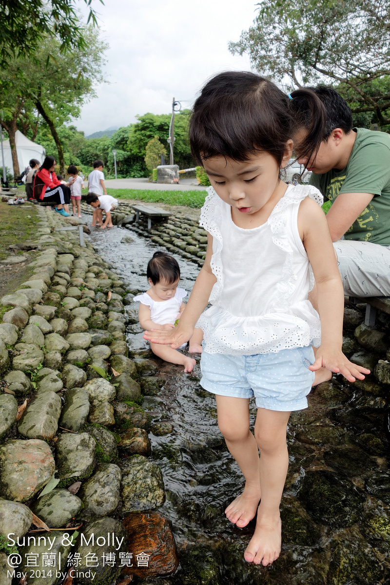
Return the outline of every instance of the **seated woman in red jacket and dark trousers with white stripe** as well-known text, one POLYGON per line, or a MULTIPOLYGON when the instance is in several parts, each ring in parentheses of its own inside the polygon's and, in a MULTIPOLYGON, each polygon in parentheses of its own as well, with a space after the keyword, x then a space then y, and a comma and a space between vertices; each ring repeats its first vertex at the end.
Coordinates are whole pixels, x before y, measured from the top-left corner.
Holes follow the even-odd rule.
POLYGON ((56 202, 57 206, 54 207, 55 211, 58 214, 68 217, 70 214, 63 209, 63 206, 70 203, 70 188, 58 181, 57 175, 54 173, 54 168, 56 168, 54 156, 47 156, 34 177, 34 197, 44 202, 56 202), (37 177, 40 178, 43 185, 42 183, 37 183, 37 177), (40 192, 36 191, 36 187, 40 192))

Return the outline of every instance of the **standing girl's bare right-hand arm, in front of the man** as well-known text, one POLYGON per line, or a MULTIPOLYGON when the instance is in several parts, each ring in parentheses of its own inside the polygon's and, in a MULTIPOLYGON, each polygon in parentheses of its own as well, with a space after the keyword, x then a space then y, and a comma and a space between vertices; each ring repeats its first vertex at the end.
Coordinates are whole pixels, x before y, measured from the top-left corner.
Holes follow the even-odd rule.
POLYGON ((298 228, 308 253, 317 285, 318 312, 321 320, 321 345, 312 371, 326 367, 341 373, 348 381, 364 379, 370 370, 350 362, 341 351, 343 345, 344 291, 336 254, 323 210, 306 197, 299 207, 298 228))

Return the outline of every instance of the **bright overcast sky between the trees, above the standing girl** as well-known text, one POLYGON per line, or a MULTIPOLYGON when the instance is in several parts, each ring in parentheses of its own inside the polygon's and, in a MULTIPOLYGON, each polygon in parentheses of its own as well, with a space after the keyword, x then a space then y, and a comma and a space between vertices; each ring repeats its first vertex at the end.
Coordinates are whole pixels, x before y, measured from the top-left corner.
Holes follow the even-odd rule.
POLYGON ((127 126, 137 114, 169 113, 172 98, 191 107, 206 78, 250 70, 249 57, 233 56, 256 16, 258 0, 94 0, 102 38, 109 43, 104 75, 109 84, 84 106, 74 123, 88 136, 127 126))

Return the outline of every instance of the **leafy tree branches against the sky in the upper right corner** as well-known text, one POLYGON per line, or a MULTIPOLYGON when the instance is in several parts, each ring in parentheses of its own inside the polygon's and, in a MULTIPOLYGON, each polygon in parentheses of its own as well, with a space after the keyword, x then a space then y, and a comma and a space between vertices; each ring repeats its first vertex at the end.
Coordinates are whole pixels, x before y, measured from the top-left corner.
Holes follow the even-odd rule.
MULTIPOLYGON (((249 53, 261 74, 292 87, 325 82, 356 97, 356 113, 390 123, 390 86, 372 95, 372 82, 390 75, 390 0, 263 0, 253 26, 230 43, 249 53)), ((375 92, 374 92, 375 93, 375 92)))

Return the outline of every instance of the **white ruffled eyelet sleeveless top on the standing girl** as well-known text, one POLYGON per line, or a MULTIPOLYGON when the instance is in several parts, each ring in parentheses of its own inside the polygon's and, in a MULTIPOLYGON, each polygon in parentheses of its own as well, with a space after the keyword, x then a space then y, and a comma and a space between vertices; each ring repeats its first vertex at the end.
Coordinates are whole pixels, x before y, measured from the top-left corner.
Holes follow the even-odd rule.
POLYGON ((319 315, 308 301, 312 271, 298 232, 305 197, 323 201, 311 185, 288 185, 267 222, 243 229, 230 205, 208 188, 199 223, 213 237, 217 282, 212 307, 196 324, 206 352, 254 355, 320 344, 319 315))

